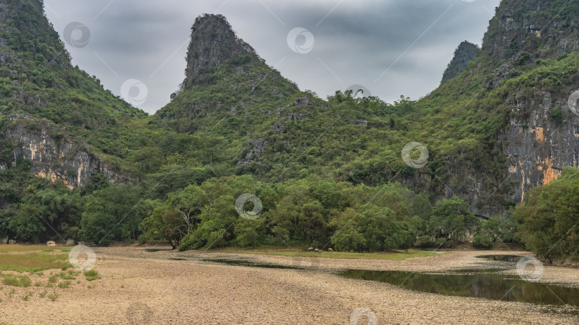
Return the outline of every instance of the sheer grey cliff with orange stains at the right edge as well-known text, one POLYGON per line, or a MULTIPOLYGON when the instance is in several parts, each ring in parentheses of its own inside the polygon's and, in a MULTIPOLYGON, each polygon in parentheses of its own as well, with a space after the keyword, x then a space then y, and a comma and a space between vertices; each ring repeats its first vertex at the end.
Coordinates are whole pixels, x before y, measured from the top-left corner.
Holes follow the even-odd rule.
POLYGON ((531 188, 556 180, 563 167, 579 167, 579 115, 569 109, 568 91, 531 88, 518 95, 528 92, 524 99, 515 96, 508 102, 528 118, 515 115, 501 133, 509 181, 517 185, 511 197, 517 202, 531 188))

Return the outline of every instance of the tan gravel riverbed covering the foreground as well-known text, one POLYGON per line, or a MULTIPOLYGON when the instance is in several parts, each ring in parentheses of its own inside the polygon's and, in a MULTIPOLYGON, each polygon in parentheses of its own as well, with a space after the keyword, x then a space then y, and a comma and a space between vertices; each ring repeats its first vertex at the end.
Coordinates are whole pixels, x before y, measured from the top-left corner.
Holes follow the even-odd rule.
MULTIPOLYGON (((361 314, 361 309, 370 310, 376 324, 579 324, 577 316, 544 312, 533 304, 412 292, 332 274, 337 269, 433 272, 480 267, 480 263, 493 267, 493 262, 475 256, 504 251, 384 261, 145 252, 142 247, 94 250, 95 269, 102 279, 86 282, 79 277, 68 289, 49 288, 58 292, 56 301, 39 296, 44 287, 3 286, 0 324, 356 324, 350 323, 350 316, 356 311, 361 314), (237 267, 203 262, 200 257, 308 269, 237 267), (11 289, 15 292, 9 297, 11 289), (34 294, 25 301, 21 296, 27 292, 34 294)), ((49 272, 36 277, 33 283, 44 281, 49 272)), ((579 287, 579 271, 545 267, 542 281, 579 287)), ((362 316, 357 324, 368 324, 365 319, 362 316)))

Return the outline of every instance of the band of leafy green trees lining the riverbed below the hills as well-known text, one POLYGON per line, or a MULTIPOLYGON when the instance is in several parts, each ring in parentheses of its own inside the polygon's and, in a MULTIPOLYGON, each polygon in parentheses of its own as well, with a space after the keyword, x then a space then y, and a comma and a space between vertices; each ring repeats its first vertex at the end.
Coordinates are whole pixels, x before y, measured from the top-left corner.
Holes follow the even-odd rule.
MULTIPOLYGON (((310 176, 283 183, 252 176, 213 177, 159 198, 137 185, 109 184, 97 175, 84 189, 37 177, 19 161, 0 172, 3 197, 0 232, 22 242, 64 235, 95 244, 111 241, 164 241, 179 249, 276 245, 377 252, 410 247, 454 247, 470 242, 491 247, 512 242, 516 225, 503 217, 480 221, 458 197, 432 204, 422 192, 400 183, 352 185, 310 176), (236 210, 236 200, 254 194, 257 217, 236 210)), ((247 202, 244 210, 255 210, 247 202)), ((58 239, 58 238, 56 238, 58 239)))

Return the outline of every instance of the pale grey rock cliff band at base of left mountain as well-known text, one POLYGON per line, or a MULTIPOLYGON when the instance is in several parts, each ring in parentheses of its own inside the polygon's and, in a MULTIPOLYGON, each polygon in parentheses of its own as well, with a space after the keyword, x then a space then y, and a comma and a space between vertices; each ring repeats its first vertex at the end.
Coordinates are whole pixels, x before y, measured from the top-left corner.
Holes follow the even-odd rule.
POLYGON ((134 177, 115 172, 89 145, 58 136, 59 128, 36 120, 28 115, 11 115, 11 125, 0 135, 4 143, 11 144, 11 159, 1 162, 0 170, 16 165, 22 158, 32 162, 30 172, 47 177, 53 182, 61 180, 70 188, 82 187, 93 175, 102 173, 109 182, 136 182, 134 177))

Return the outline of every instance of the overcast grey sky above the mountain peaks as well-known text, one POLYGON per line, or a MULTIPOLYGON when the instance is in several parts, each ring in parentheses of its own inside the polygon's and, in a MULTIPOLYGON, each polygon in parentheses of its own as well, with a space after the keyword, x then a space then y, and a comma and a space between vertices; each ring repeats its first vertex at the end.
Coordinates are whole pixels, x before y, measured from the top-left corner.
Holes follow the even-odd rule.
POLYGON ((44 0, 73 64, 148 113, 183 81, 190 27, 204 13, 226 16, 302 90, 325 98, 359 84, 392 102, 436 88, 461 41, 480 46, 499 2, 44 0))

